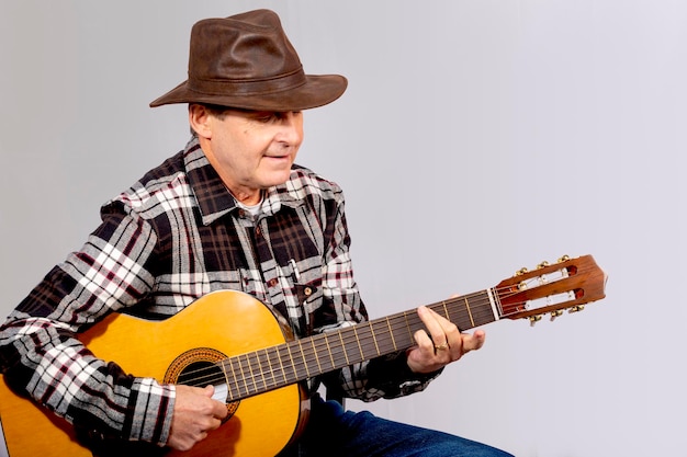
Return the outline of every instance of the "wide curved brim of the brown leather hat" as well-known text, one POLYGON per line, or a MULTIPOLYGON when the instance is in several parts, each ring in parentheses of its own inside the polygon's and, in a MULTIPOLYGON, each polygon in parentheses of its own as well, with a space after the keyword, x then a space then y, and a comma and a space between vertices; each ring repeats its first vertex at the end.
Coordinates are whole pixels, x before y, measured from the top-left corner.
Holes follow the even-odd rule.
POLYGON ((302 111, 337 100, 348 85, 340 75, 306 75, 306 82, 286 90, 251 94, 209 94, 189 88, 188 80, 154 100, 150 107, 174 103, 209 103, 241 110, 302 111))

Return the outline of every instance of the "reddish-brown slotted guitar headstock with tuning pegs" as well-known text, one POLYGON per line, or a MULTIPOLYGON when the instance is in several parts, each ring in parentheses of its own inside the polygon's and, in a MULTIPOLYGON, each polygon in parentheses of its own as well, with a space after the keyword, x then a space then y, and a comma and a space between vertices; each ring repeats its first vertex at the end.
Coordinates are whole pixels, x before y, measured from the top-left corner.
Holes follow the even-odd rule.
POLYGON ((553 320, 565 309, 579 311, 585 304, 606 297, 606 279, 592 255, 563 256, 554 264, 542 262, 536 270, 518 271, 498 283, 495 293, 502 318, 529 318, 533 324, 543 315, 553 320))

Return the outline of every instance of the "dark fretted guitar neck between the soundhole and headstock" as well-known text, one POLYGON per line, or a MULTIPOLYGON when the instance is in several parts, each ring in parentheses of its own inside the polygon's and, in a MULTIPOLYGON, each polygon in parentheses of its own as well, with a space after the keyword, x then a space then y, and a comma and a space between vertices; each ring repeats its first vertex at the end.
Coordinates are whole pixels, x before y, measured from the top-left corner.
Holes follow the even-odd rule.
MULTIPOLYGON (((428 308, 463 331, 497 320, 500 305, 493 289, 486 289, 428 308)), ((228 400, 240 400, 406 350, 415 344, 414 333, 424 328, 416 310, 399 312, 225 358, 218 363, 223 373, 214 380, 227 382, 228 400)))

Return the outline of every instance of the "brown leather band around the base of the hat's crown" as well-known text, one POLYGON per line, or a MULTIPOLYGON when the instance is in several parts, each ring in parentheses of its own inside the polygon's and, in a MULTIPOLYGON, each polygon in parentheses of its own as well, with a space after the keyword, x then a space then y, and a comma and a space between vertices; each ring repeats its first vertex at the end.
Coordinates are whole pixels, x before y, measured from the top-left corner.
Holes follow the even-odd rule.
POLYGON ((282 75, 270 80, 203 80, 189 77, 188 88, 193 92, 207 95, 256 95, 290 90, 305 84, 306 78, 302 68, 291 75, 282 75))

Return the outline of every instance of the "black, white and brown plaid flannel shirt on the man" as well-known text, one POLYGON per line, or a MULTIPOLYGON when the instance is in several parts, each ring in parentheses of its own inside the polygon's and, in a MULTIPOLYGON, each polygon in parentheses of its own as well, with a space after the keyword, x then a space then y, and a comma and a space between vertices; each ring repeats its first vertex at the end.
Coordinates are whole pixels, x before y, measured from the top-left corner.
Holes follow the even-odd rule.
MULTIPOLYGON (((55 266, 0 328, 0 368, 41 404, 99 434, 164 445, 174 387, 126 374, 75 334, 113 311, 172 316, 218 289, 254 295, 297 336, 367 320, 353 281, 341 190, 294 165, 255 218, 198 140, 101 209, 79 252, 55 266), (305 297, 304 290, 315 290, 305 297)), ((145 347, 140 349, 145 351, 145 347)), ((423 390, 403 353, 325 376, 364 401, 423 390)))

